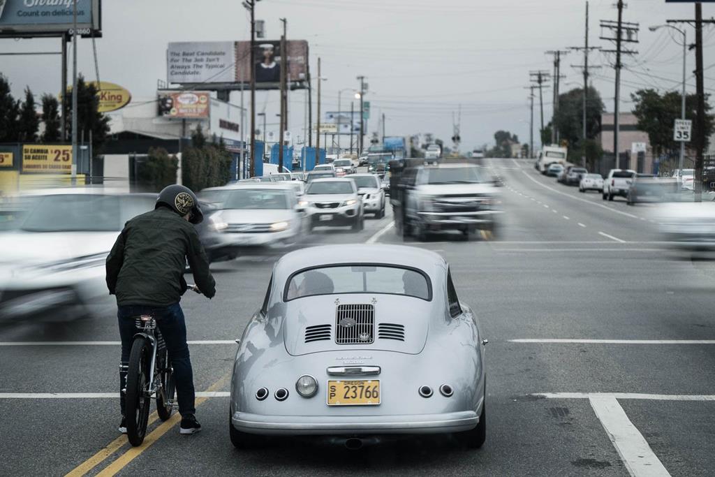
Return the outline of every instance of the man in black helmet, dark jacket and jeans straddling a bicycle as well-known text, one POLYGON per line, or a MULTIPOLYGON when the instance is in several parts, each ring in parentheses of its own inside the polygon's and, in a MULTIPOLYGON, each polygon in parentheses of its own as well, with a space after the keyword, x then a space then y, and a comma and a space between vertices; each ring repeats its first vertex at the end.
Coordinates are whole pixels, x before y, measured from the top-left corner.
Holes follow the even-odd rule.
MULTIPOLYGON (((205 296, 216 294, 204 247, 192 224, 204 216, 194 192, 182 185, 169 185, 159 192, 154 210, 137 215, 124 225, 107 257, 107 287, 117 295, 122 365, 127 365, 132 340, 137 333, 134 317, 152 315, 164 337, 174 369, 180 433, 201 430, 194 413, 194 375, 186 342, 186 324, 179 300, 187 290, 184 270, 188 261, 197 287, 205 296)), ((126 387, 126 368, 120 372, 119 388, 126 387)), ((124 393, 120 392, 122 423, 126 433, 124 393)))

